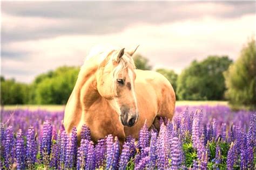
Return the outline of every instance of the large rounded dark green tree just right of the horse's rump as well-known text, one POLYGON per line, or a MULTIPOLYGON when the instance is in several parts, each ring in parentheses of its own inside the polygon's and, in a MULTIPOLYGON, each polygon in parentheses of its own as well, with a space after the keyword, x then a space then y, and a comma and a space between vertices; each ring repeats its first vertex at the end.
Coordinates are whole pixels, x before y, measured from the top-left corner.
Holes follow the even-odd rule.
POLYGON ((201 62, 193 61, 178 77, 179 100, 224 100, 223 72, 231 63, 228 56, 208 56, 201 62))

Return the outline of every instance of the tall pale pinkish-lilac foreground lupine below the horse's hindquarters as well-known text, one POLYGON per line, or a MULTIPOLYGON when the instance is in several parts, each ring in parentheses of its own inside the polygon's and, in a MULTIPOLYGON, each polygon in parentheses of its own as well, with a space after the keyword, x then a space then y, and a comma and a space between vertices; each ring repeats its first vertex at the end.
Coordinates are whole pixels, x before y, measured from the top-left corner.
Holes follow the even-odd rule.
POLYGON ((160 126, 159 136, 157 139, 157 168, 166 169, 169 168, 169 157, 170 157, 170 147, 168 147, 166 135, 166 126, 162 124, 160 126))

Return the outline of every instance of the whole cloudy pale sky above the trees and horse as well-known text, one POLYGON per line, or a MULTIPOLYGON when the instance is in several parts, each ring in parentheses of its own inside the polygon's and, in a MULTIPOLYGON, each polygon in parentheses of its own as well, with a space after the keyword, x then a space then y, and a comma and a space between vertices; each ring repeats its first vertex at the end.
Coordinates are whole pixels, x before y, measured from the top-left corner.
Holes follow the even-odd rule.
POLYGON ((236 60, 255 37, 256 2, 2 2, 1 71, 31 83, 59 66, 82 66, 112 45, 176 73, 193 60, 236 60))

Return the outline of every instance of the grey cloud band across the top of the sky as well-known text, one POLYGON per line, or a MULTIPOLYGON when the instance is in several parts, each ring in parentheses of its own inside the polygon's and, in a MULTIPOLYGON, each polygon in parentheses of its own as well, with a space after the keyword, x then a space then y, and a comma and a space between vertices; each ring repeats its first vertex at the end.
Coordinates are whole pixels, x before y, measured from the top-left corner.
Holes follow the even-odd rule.
POLYGON ((235 18, 255 2, 3 2, 2 41, 70 34, 109 34, 136 24, 158 25, 202 17, 235 18))

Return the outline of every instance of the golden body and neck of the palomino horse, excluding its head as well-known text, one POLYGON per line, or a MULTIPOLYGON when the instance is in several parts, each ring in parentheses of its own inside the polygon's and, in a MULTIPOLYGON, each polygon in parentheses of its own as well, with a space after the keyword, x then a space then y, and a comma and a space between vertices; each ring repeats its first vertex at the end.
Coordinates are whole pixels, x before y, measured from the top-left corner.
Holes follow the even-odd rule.
MULTIPOLYGON (((80 70, 76 86, 65 109, 64 125, 68 133, 73 127, 76 127, 79 138, 82 125, 86 124, 91 130, 92 139, 95 141, 104 138, 107 134, 113 134, 120 141, 124 141, 125 137, 130 135, 138 138, 139 130, 145 120, 147 120, 148 127, 154 124, 156 128, 159 128, 159 116, 172 119, 176 98, 170 82, 159 73, 133 69, 133 75, 136 76, 136 79, 134 78, 134 82, 131 80, 132 85, 127 87, 134 90, 134 102, 132 100, 130 103, 135 103, 135 105, 131 104, 131 108, 137 109, 139 117, 137 117, 137 123, 131 127, 125 126, 125 123, 122 122, 124 118, 121 118, 122 121, 120 121, 120 115, 123 115, 119 114, 117 109, 113 107, 109 97, 100 95, 102 92, 98 87, 100 74, 98 72, 100 72, 99 67, 102 61, 100 63, 99 61, 97 55, 93 56, 87 63, 85 61, 80 70)), ((104 82, 102 86, 104 86, 104 82)), ((120 89, 117 91, 120 93, 119 95, 122 95, 122 91, 119 92, 120 89)), ((131 111, 126 114, 131 115, 131 111)))

